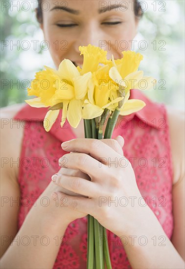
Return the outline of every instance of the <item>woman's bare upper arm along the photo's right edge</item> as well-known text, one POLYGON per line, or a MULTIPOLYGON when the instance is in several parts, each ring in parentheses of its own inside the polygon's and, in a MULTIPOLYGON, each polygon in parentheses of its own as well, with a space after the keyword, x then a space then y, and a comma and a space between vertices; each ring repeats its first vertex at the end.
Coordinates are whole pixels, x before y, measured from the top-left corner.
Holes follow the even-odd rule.
POLYGON ((185 112, 168 109, 168 121, 173 162, 172 243, 185 260, 185 112))

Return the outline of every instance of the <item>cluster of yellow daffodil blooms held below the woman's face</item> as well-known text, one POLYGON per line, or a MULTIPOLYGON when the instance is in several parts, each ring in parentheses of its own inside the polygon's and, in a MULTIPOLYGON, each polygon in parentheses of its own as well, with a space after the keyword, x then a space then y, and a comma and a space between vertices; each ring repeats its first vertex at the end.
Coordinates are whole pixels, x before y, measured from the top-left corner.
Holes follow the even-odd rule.
POLYGON ((155 80, 138 71, 143 56, 133 51, 123 51, 121 59, 107 59, 107 51, 95 47, 79 46, 83 66, 75 67, 65 59, 58 70, 45 67, 37 72, 28 89, 36 98, 25 100, 32 107, 49 107, 44 127, 48 132, 62 109, 61 127, 66 118, 76 128, 82 118, 92 119, 104 110, 127 115, 145 106, 141 100, 129 100, 131 89, 147 90, 155 80), (50 124, 48 124, 48 122, 50 124))

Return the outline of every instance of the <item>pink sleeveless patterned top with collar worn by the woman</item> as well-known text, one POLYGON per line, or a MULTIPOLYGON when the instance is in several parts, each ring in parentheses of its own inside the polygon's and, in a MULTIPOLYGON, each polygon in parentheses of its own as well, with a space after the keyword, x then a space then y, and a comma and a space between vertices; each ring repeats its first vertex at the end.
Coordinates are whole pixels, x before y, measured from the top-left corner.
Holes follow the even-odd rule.
MULTIPOLYGON (((139 90, 131 90, 130 99, 142 99, 146 106, 139 112, 122 117, 112 138, 123 136, 124 156, 133 166, 139 191, 171 239, 173 171, 165 105, 152 102, 139 90)), ((47 108, 25 105, 14 117, 21 121, 22 126, 25 121, 19 171, 22 198, 19 228, 35 200, 51 181, 51 176, 60 169, 58 159, 66 154, 61 142, 76 138, 68 121, 63 128, 60 127, 61 112, 59 120, 47 133, 43 127, 46 112, 47 108)), ((120 239, 109 230, 107 235, 113 269, 131 268, 120 239)), ((53 269, 85 269, 86 255, 87 217, 69 224, 53 269)))

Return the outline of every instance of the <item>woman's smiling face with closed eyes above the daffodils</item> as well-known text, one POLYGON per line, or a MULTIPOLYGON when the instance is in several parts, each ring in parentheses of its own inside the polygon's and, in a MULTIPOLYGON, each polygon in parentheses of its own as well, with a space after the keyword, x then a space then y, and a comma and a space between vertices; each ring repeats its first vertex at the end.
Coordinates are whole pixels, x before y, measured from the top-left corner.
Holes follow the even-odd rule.
POLYGON ((41 28, 56 68, 64 59, 82 65, 80 45, 99 46, 108 59, 121 58, 137 33, 134 0, 49 0, 49 7, 43 0, 43 9, 41 28))

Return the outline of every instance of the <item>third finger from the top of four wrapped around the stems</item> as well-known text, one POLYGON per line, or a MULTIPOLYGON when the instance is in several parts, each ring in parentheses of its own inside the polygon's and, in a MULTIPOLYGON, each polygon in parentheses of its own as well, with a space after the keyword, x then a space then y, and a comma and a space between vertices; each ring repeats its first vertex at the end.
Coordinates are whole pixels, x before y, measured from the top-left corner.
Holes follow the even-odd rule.
POLYGON ((79 177, 71 177, 69 175, 55 174, 51 177, 53 183, 58 186, 61 186, 65 189, 68 189, 77 194, 84 195, 85 197, 95 197, 101 195, 100 188, 97 188, 97 185, 89 180, 81 179, 79 177))

